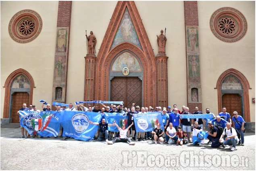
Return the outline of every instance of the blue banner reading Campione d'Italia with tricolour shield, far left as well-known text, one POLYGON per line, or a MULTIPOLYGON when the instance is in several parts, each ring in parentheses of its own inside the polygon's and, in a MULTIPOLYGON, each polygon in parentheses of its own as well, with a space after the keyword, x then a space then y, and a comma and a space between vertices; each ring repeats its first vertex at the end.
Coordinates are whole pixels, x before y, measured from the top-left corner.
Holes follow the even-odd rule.
POLYGON ((30 135, 58 136, 60 112, 58 111, 19 111, 20 123, 30 135))

